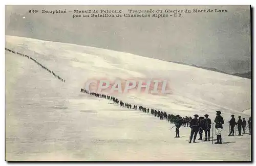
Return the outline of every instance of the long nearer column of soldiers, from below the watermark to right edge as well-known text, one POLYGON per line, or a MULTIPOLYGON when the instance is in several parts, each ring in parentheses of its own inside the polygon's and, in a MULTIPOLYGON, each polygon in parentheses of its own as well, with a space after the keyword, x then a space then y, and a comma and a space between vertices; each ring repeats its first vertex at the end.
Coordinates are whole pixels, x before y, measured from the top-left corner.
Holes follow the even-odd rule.
MULTIPOLYGON (((94 97, 98 97, 98 98, 104 98, 104 99, 108 99, 113 101, 116 104, 119 104, 120 102, 120 106, 121 107, 126 107, 126 108, 132 108, 132 105, 129 103, 123 103, 122 101, 119 101, 117 98, 109 96, 109 95, 105 95, 105 94, 100 94, 100 93, 95 93, 95 92, 89 92, 86 89, 81 88, 82 93, 88 93, 91 96, 94 97)), ((133 109, 137 110, 137 105, 133 106, 133 109)), ((150 108, 146 108, 143 106, 139 106, 139 110, 144 112, 144 113, 150 113, 150 108)), ((191 140, 193 140, 193 143, 196 143, 196 138, 197 138, 197 134, 199 133, 199 139, 198 140, 203 140, 203 133, 205 133, 205 139, 203 141, 210 141, 210 131, 211 131, 211 127, 215 127, 216 130, 216 135, 217 135, 217 142, 215 144, 222 144, 222 136, 221 136, 221 131, 223 129, 223 124, 224 124, 224 120, 223 117, 221 116, 221 111, 216 111, 216 117, 215 117, 215 126, 211 126, 213 125, 213 123, 211 122, 209 115, 205 114, 204 117, 200 116, 198 114, 195 114, 194 117, 192 118, 191 116, 185 116, 185 117, 181 117, 180 115, 174 115, 174 114, 168 114, 166 112, 163 111, 157 111, 156 109, 152 109, 151 108, 151 114, 159 117, 160 120, 166 120, 169 123, 173 123, 174 126, 172 128, 176 128, 176 138, 180 137, 180 127, 190 127, 191 128, 191 132, 190 132, 190 136, 189 136, 189 142, 191 143, 191 140), (194 136, 194 138, 193 138, 194 136)), ((249 117, 248 125, 246 127, 246 121, 245 118, 243 118, 243 121, 241 120, 241 116, 238 116, 239 120, 238 122, 236 122, 236 120, 234 119, 234 115, 231 115, 231 120, 229 121, 229 128, 230 128, 230 133, 228 136, 234 136, 234 126, 237 125, 238 127, 238 135, 241 135, 241 129, 243 129, 243 134, 245 134, 245 130, 247 129, 247 127, 249 128, 249 135, 251 135, 251 117, 249 117), (232 134, 232 135, 231 135, 232 134)), ((172 129, 171 128, 171 129, 172 129)), ((236 128, 237 130, 237 128, 236 128)), ((212 133, 213 134, 213 133, 212 133)), ((212 135, 212 139, 214 135, 212 135)))

